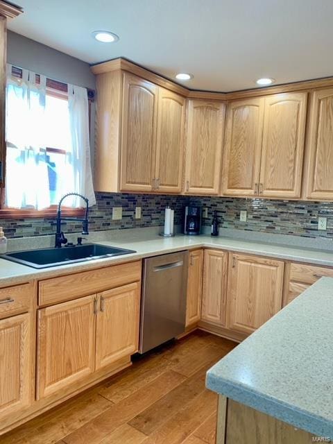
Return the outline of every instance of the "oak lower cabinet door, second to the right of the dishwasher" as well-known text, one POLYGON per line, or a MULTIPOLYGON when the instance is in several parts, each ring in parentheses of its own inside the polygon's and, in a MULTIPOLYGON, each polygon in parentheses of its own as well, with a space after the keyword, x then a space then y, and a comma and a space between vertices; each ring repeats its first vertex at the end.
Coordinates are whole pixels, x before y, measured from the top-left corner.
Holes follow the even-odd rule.
POLYGON ((225 326, 228 253, 205 250, 203 261, 203 321, 225 326))

